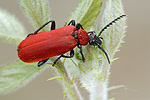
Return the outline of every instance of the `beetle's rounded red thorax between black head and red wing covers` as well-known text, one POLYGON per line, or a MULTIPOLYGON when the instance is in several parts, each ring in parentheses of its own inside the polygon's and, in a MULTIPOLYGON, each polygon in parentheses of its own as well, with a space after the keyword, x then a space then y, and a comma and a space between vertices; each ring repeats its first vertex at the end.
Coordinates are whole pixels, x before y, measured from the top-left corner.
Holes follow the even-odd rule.
POLYGON ((74 34, 72 34, 73 37, 75 37, 76 41, 79 42, 81 45, 87 45, 89 41, 89 36, 87 32, 83 29, 79 29, 75 31, 74 34))

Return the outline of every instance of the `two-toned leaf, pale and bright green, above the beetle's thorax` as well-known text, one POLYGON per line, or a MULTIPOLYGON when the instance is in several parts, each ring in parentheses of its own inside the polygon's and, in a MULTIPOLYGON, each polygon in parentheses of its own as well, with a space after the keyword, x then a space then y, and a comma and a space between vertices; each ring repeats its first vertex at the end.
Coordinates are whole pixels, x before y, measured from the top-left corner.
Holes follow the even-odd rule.
POLYGON ((76 9, 72 12, 69 21, 75 20, 85 30, 89 29, 95 22, 102 7, 101 0, 80 0, 76 9))

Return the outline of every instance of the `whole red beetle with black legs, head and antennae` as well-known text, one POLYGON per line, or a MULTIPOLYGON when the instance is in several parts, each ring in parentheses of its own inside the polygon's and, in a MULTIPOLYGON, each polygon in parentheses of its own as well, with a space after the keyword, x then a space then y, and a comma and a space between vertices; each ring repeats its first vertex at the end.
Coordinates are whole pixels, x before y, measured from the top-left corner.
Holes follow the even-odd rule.
POLYGON ((67 26, 55 29, 55 21, 51 20, 41 26, 34 33, 31 33, 18 45, 18 57, 27 63, 38 62, 38 67, 43 65, 50 57, 60 55, 53 63, 53 66, 61 58, 72 58, 74 56, 73 49, 77 46, 80 49, 83 62, 85 61, 82 53, 82 45, 98 46, 104 54, 108 62, 110 63, 109 57, 105 50, 101 47, 101 33, 110 25, 115 23, 118 19, 122 18, 122 15, 108 25, 106 25, 96 36, 94 31, 86 32, 81 24, 75 26, 75 21, 72 20, 67 26), (49 23, 51 24, 51 31, 39 32, 43 27, 49 23), (39 32, 39 33, 38 33, 39 32), (88 35, 91 33, 90 35, 88 35), (64 53, 70 51, 70 56, 65 56, 64 53))

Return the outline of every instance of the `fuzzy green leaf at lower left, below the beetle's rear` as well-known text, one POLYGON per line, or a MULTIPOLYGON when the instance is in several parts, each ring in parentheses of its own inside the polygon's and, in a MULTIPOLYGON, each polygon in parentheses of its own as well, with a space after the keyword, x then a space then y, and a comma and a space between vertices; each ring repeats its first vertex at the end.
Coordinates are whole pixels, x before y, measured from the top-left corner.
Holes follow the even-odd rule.
POLYGON ((44 68, 35 63, 28 64, 18 60, 0 67, 0 93, 6 94, 29 83, 44 68))

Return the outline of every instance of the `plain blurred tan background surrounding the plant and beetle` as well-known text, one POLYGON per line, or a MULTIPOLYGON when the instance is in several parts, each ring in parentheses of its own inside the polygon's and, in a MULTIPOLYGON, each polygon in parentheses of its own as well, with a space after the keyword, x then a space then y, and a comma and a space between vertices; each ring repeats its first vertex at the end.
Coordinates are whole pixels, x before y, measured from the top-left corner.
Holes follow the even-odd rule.
MULTIPOLYGON (((128 15, 128 29, 125 44, 116 54, 119 60, 112 64, 110 86, 125 85, 126 89, 109 92, 115 100, 150 100, 150 0, 122 0, 128 15)), ((79 0, 49 0, 51 16, 57 27, 64 25, 79 0)), ((18 0, 0 0, 0 8, 14 14, 24 23, 27 32, 33 32, 27 18, 20 10, 18 0)), ((0 42, 0 65, 18 59, 16 45, 0 42)), ((56 80, 46 81, 54 76, 47 69, 27 86, 7 95, 0 100, 62 100, 63 91, 56 80)), ((85 96, 85 95, 84 95, 85 96)))

